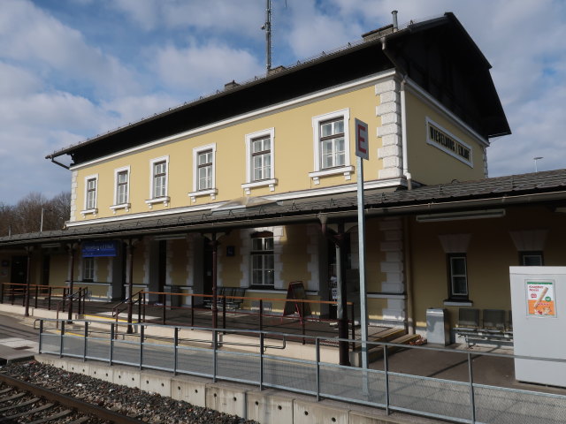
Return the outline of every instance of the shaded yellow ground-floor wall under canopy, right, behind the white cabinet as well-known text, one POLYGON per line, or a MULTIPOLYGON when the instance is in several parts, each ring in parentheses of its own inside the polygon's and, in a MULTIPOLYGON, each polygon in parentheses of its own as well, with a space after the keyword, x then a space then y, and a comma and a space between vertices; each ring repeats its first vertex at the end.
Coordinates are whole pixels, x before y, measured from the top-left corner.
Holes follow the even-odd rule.
MULTIPOLYGON (((420 328, 426 327, 426 309, 445 307, 448 297, 447 259, 440 234, 471 234, 466 254, 468 290, 471 307, 478 309, 511 309, 509 266, 519 265, 519 253, 509 231, 547 230, 545 265, 566 265, 564 216, 547 208, 509 208, 503 218, 411 222, 415 318, 420 328)), ((454 327, 458 307, 446 308, 454 327)))

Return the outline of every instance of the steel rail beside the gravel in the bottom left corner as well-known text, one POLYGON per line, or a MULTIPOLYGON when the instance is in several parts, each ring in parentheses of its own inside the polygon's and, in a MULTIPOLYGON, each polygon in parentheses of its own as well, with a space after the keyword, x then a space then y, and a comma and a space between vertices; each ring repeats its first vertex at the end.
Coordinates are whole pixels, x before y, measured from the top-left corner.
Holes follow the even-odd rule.
POLYGON ((4 382, 12 387, 16 387, 19 390, 25 390, 39 398, 44 398, 50 400, 51 402, 56 402, 58 405, 72 408, 76 411, 79 411, 80 413, 95 415, 96 418, 100 420, 108 420, 116 424, 144 424, 142 420, 134 420, 133 418, 130 418, 126 415, 120 415, 119 413, 114 413, 101 406, 92 405, 88 402, 83 402, 82 400, 73 398, 71 396, 63 395, 61 393, 57 393, 56 391, 45 389, 44 387, 37 386, 29 382, 24 382, 17 378, 11 377, 10 375, 0 373, 0 382, 4 382))

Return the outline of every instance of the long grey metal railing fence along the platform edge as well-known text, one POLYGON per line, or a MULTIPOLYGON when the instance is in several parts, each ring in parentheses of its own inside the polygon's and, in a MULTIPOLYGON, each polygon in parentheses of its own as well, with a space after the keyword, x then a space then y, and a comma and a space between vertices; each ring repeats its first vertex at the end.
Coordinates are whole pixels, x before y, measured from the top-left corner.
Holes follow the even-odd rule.
MULTIPOLYGON (((336 344, 337 339, 309 337, 312 345, 312 359, 299 360, 285 356, 285 349, 296 335, 270 331, 202 329, 151 324, 133 324, 136 332, 126 335, 122 325, 109 322, 74 322, 84 329, 73 332, 65 330, 65 321, 40 321, 40 353, 83 360, 100 360, 112 364, 170 371, 184 375, 209 377, 218 380, 255 384, 260 390, 274 388, 289 390, 321 398, 335 399, 359 405, 384 408, 392 411, 414 413, 441 420, 465 423, 532 424, 563 423, 566 420, 566 396, 532 390, 519 390, 494 384, 474 382, 475 369, 480 359, 509 361, 525 357, 493 352, 470 352, 428 346, 402 345, 413 354, 411 361, 423 357, 430 367, 430 358, 439 360, 439 369, 460 367, 461 372, 453 378, 439 378, 439 372, 407 373, 403 370, 407 362, 397 360, 402 354, 392 356, 392 348, 400 345, 371 343, 375 352, 382 354, 371 369, 344 367, 322 361, 323 345, 336 344), (95 328, 95 326, 97 328, 95 328), (108 326, 108 329, 100 327, 108 326), (119 331, 119 329, 124 331, 119 331), (149 328, 153 333, 169 332, 168 336, 147 336, 149 328), (189 338, 188 330, 210 337, 189 338), (204 331, 204 333, 203 333, 204 331), (180 337, 181 335, 185 335, 180 337), (232 340, 226 341, 226 335, 232 340), (250 337, 255 340, 249 342, 250 337), (245 338, 245 340, 243 340, 245 338), (256 347, 254 352, 236 350, 240 345, 256 347), (272 355, 273 348, 281 349, 272 355), (232 348, 232 349, 229 349, 232 348), (428 355, 428 356, 427 356, 428 355), (448 357, 452 358, 450 361, 448 357), (394 360, 392 360, 394 359, 394 360), (462 372, 463 371, 463 372, 462 372), (423 375, 420 375, 423 374, 423 375)), ((68 329, 68 326, 67 326, 68 329)), ((405 352, 403 352, 404 354, 405 352)), ((529 358, 548 360, 543 358, 529 358)), ((554 360, 566 362, 566 360, 554 360)), ((493 367, 493 364, 490 365, 493 367)), ((501 364, 500 364, 501 366, 501 364)), ((494 367, 499 367, 495 365, 494 367)), ((418 369, 419 367, 417 367, 418 369)), ((486 370, 482 370, 485 372, 486 370)))

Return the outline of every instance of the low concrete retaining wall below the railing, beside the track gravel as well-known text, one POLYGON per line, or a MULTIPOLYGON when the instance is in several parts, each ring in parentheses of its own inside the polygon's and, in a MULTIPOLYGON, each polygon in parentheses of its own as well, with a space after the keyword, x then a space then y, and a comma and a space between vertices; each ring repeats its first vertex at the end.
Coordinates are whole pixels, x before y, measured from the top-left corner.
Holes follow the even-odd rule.
MULTIPOLYGON (((370 407, 322 400, 279 390, 259 390, 257 387, 230 382, 210 382, 190 375, 172 375, 160 371, 100 362, 36 355, 35 359, 69 372, 89 375, 106 382, 123 384, 158 393, 192 405, 205 406, 222 413, 238 415, 261 424, 387 424, 420 422, 416 417, 397 420, 385 412, 370 407)), ((430 421, 427 421, 430 422, 430 421)))

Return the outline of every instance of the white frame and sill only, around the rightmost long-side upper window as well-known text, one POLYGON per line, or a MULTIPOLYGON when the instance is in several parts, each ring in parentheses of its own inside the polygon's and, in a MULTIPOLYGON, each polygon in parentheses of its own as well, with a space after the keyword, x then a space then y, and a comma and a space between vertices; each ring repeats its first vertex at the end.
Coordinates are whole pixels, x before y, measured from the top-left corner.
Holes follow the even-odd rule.
POLYGON ((349 133, 350 110, 342 109, 334 112, 325 113, 312 118, 313 132, 313 151, 314 151, 314 171, 309 172, 309 177, 315 185, 320 184, 321 177, 328 177, 343 174, 347 181, 352 179, 354 167, 350 164, 350 133, 349 133), (321 148, 320 148, 320 124, 333 119, 344 119, 344 165, 336 168, 323 169, 321 165, 321 148))

